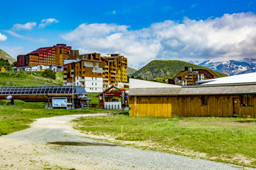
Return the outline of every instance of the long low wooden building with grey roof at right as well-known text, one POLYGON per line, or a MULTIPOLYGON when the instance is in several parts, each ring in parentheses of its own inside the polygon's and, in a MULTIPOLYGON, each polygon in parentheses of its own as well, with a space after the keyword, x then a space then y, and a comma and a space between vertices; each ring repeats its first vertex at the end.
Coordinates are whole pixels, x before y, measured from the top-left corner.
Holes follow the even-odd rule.
POLYGON ((132 116, 250 115, 256 118, 256 83, 145 88, 137 85, 142 80, 129 81, 129 115, 132 116))

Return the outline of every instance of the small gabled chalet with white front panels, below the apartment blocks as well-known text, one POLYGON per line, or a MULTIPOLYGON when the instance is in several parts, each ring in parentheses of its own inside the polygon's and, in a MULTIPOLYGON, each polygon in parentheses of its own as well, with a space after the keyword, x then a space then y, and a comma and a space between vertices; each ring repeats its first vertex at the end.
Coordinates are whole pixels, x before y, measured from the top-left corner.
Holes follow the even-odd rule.
MULTIPOLYGON (((125 90, 119 89, 117 86, 111 86, 110 88, 103 91, 101 94, 98 94, 96 97, 99 98, 99 108, 121 109, 122 91, 125 90)), ((129 106, 127 92, 125 92, 125 106, 129 106)))

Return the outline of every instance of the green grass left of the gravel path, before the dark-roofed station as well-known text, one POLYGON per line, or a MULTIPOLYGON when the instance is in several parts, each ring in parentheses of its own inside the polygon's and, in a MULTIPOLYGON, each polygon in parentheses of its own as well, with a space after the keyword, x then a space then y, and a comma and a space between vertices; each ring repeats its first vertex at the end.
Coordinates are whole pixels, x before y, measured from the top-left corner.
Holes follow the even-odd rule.
POLYGON ((36 118, 47 118, 56 115, 73 115, 86 113, 116 113, 112 110, 90 109, 45 109, 44 103, 26 103, 15 100, 15 106, 7 106, 9 101, 0 101, 0 135, 29 128, 36 118))

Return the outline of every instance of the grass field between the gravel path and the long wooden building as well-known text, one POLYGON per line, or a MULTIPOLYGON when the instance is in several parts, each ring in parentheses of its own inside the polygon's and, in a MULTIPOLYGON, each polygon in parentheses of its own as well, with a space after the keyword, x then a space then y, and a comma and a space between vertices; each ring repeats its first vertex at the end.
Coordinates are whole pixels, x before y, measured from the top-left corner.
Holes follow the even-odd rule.
POLYGON ((256 167, 255 119, 114 115, 75 121, 88 134, 114 137, 111 142, 256 167))

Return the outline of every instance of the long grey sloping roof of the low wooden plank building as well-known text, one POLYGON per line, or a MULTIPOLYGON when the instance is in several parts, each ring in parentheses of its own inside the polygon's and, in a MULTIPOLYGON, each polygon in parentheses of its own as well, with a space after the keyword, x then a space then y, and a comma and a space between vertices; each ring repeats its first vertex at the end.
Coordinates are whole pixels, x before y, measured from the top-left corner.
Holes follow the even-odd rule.
POLYGON ((130 96, 186 96, 218 94, 256 94, 256 84, 233 86, 182 86, 181 88, 134 88, 130 96))

